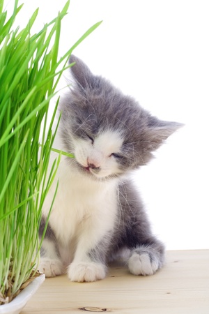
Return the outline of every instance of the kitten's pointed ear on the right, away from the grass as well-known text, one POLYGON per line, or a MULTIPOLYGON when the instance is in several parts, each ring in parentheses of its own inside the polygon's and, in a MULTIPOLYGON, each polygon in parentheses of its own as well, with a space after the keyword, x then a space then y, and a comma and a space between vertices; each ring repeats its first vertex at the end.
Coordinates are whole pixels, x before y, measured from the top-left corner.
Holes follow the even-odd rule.
POLYGON ((162 121, 155 117, 150 117, 147 132, 149 137, 148 142, 150 142, 150 150, 154 151, 160 147, 171 134, 183 126, 184 124, 178 122, 162 121))

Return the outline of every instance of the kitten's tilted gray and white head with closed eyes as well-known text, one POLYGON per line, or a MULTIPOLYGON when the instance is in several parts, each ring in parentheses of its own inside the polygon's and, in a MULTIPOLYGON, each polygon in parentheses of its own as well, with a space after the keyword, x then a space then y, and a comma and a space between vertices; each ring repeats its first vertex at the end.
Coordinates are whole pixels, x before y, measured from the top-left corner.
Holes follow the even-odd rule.
POLYGON ((148 163, 181 124, 161 121, 71 56, 74 84, 61 101, 61 137, 75 168, 93 179, 118 177, 148 163))

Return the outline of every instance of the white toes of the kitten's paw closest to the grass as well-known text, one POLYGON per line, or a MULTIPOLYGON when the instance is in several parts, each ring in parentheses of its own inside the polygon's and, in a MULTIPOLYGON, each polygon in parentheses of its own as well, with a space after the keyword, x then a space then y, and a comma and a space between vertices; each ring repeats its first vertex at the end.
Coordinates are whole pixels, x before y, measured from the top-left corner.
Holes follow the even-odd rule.
POLYGON ((63 274, 63 264, 60 260, 43 257, 40 259, 38 270, 44 273, 46 277, 55 277, 63 274))

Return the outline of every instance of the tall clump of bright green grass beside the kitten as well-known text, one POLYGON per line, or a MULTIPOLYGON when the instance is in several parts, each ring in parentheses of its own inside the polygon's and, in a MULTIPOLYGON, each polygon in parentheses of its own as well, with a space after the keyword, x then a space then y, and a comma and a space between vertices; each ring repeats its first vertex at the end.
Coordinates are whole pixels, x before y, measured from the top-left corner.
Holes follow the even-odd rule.
POLYGON ((7 17, 0 1, 0 304, 12 300, 28 281, 39 255, 42 204, 61 156, 57 151, 58 158, 48 169, 56 133, 52 132, 56 108, 47 128, 49 100, 69 67, 72 50, 100 24, 58 58, 61 20, 69 3, 31 35, 38 9, 24 29, 13 29, 22 5, 14 0, 13 13, 7 17))

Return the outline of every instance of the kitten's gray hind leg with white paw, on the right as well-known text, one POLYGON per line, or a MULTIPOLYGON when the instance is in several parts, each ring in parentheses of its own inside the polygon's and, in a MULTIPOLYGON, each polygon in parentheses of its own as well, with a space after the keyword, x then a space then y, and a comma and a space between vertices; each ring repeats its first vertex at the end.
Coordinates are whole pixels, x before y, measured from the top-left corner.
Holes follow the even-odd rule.
POLYGON ((128 268, 134 275, 153 275, 164 263, 164 245, 153 236, 139 193, 131 182, 121 185, 119 193, 121 238, 130 249, 128 268))

